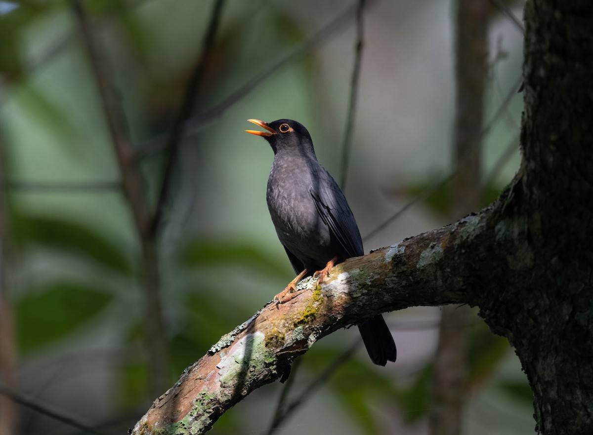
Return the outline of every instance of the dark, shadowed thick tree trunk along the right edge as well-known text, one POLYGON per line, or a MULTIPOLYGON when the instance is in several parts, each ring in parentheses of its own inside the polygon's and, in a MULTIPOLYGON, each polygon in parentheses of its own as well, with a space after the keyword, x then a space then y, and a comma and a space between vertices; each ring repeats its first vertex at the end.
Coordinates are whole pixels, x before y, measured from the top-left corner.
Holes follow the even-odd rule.
POLYGON ((531 264, 530 280, 489 322, 521 359, 538 430, 590 434, 593 3, 528 2, 525 24, 522 177, 513 206, 522 222, 512 236, 524 242, 508 257, 531 264))

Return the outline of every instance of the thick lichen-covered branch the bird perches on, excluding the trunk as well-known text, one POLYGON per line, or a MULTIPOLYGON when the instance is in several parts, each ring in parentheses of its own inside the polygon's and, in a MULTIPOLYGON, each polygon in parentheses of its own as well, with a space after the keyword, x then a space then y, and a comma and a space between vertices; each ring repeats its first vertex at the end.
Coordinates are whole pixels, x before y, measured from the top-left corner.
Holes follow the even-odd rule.
POLYGON ((477 305, 480 277, 474 261, 495 242, 490 223, 495 214, 496 209, 486 209, 352 258, 334 268, 321 290, 309 280, 313 291, 279 306, 266 305, 188 367, 133 433, 157 428, 159 433, 204 433, 251 391, 278 379, 315 341, 374 314, 417 305, 477 305))

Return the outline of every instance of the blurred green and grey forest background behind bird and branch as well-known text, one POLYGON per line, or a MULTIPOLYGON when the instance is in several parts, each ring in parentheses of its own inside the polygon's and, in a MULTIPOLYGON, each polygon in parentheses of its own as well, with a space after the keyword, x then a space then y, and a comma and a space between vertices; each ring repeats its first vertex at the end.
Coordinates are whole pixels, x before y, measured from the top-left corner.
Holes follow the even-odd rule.
MULTIPOLYGON (((467 212, 496 199, 520 158, 523 2, 485 4, 480 153, 460 160, 455 1, 0 1, 0 433, 125 433, 294 277, 249 118, 308 128, 367 252, 462 217, 472 159, 467 212)), ((356 328, 316 343, 286 403, 322 385, 277 432, 435 433, 447 330, 466 337, 462 431, 533 432, 514 351, 468 312, 386 314, 387 367, 345 354, 356 328)), ((266 433, 285 388, 212 433, 266 433)))

